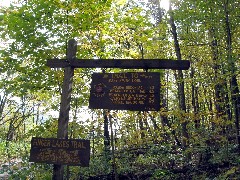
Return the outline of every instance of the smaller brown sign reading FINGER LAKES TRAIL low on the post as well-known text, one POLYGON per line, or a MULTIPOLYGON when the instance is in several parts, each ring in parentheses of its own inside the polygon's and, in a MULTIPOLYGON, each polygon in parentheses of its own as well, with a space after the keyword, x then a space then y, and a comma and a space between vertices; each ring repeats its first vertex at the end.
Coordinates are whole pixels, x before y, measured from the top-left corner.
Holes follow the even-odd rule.
POLYGON ((89 159, 89 140, 32 138, 30 162, 88 167, 89 159))

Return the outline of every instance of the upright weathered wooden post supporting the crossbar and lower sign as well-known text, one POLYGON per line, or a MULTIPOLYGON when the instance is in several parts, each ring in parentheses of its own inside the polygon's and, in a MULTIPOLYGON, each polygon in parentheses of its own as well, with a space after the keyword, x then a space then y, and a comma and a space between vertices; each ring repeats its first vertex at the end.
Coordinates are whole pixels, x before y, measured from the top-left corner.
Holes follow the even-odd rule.
MULTIPOLYGON (((71 61, 76 57, 77 42, 74 39, 68 41, 67 61, 70 66, 64 69, 64 79, 61 94, 60 113, 58 119, 57 138, 68 139, 68 121, 70 111, 70 101, 73 83, 74 67, 71 66, 71 61)), ((64 166, 59 164, 53 165, 53 180, 63 180, 64 166)))

